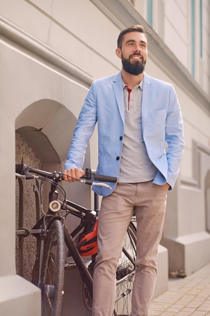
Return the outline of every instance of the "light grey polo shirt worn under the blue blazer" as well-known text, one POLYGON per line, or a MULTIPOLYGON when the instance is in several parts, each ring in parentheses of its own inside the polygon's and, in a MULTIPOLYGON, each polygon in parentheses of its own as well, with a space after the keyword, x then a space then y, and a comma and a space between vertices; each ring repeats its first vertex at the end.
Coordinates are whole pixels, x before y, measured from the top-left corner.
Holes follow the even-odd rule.
POLYGON ((143 139, 142 89, 143 80, 130 93, 123 83, 125 126, 118 178, 121 183, 150 181, 158 171, 148 156, 143 139))

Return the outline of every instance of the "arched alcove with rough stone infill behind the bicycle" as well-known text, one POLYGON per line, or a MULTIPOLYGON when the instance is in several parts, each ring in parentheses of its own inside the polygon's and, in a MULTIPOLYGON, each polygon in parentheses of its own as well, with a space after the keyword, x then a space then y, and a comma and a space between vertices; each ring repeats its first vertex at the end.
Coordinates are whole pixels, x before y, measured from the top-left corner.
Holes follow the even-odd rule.
MULTIPOLYGON (((62 171, 66 159, 69 145, 71 144, 74 128, 77 118, 62 104, 42 99, 36 101, 20 113, 16 118, 16 164, 22 161, 26 165, 43 169, 49 172, 62 171)), ((90 162, 90 148, 86 152, 86 163, 90 162)), ((90 186, 82 186, 80 183, 69 184, 61 183, 66 191, 68 199, 74 200, 90 207, 90 186)), ((37 188, 36 181, 24 180, 20 183, 16 180, 16 230, 21 227, 32 229, 36 224, 36 199, 35 192, 37 188), (23 189, 24 188, 24 189, 23 189), (21 193, 22 190, 22 193, 21 193), (20 196, 23 195, 22 205, 20 205, 20 196), (20 212, 20 207, 21 212, 20 212), (22 223, 20 224, 20 218, 22 223)), ((48 209, 48 189, 49 184, 44 185, 43 189, 43 207, 48 209)), ((74 226, 78 219, 74 217, 66 219, 67 226, 74 226)), ((32 269, 36 255, 36 238, 29 235, 22 238, 22 244, 19 236, 16 240, 16 258, 17 273, 27 280, 31 281, 32 269), (20 247, 23 248, 23 261, 19 265, 20 247), (22 272, 20 273, 22 269, 22 272)))

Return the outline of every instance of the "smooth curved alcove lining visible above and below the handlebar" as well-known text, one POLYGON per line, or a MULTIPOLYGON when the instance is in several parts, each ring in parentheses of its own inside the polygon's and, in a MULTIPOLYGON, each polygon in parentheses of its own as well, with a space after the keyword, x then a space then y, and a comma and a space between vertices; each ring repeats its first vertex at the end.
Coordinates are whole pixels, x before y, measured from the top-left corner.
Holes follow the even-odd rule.
MULTIPOLYGON (((46 171, 62 171, 71 144, 77 118, 63 104, 41 99, 30 104, 16 118, 16 132, 31 146, 46 171)), ((21 162, 21 161, 20 161, 21 162)), ((20 163, 19 162, 19 163, 20 163)), ((90 168, 90 146, 85 155, 90 168)), ((31 166, 33 167, 33 166, 31 166)), ((62 183, 69 198, 91 207, 90 187, 62 183), (79 190, 82 194, 79 194, 79 190)))

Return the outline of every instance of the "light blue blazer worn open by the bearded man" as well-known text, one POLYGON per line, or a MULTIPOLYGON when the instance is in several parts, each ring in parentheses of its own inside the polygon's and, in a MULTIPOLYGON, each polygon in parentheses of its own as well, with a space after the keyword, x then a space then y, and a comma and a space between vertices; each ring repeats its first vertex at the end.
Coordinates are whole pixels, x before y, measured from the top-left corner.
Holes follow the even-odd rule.
MULTIPOLYGON (((121 72, 92 83, 75 128, 65 169, 90 167, 83 167, 84 156, 97 122, 97 173, 118 178, 124 133, 121 72)), ((153 182, 158 185, 168 182, 172 189, 179 174, 184 147, 179 101, 171 84, 146 73, 142 95, 142 129, 148 155, 158 169, 153 182)), ((111 190, 100 186, 94 186, 93 190, 103 196, 109 195, 116 183, 108 184, 111 190)))

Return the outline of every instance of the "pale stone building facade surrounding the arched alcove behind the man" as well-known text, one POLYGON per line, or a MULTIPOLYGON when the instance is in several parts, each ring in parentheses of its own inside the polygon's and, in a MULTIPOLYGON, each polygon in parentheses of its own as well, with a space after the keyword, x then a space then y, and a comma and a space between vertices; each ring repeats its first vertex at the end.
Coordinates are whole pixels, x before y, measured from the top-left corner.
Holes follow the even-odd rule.
MULTIPOLYGON (((202 1, 203 57, 191 75, 190 1, 2 0, 0 2, 0 315, 40 315, 40 291, 16 275, 15 132, 47 171, 62 170, 91 82, 120 70, 115 56, 121 29, 135 23, 148 31, 149 75, 171 82, 181 104, 185 152, 180 177, 168 194, 155 295, 168 272, 189 275, 210 261, 209 235, 209 3, 202 1), (179 17, 179 19, 177 19, 179 17), (177 22, 178 21, 178 22, 177 22), (201 66, 199 66, 201 65, 201 66), (200 76, 200 73, 203 76, 200 76), (18 290, 17 290, 18 289, 18 290), (33 302, 32 302, 33 301, 33 302), (32 304, 32 305, 31 305, 32 304)), ((196 53, 197 54, 197 53, 196 53)), ((97 166, 97 130, 84 167, 97 166)), ((91 205, 90 188, 63 184, 67 197, 91 205), (78 194, 78 189, 80 194, 78 194), (82 200, 81 200, 82 192, 82 200)), ((163 282, 164 280, 164 282, 163 282)))

